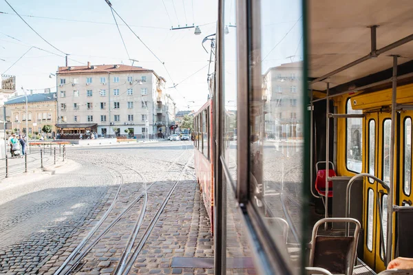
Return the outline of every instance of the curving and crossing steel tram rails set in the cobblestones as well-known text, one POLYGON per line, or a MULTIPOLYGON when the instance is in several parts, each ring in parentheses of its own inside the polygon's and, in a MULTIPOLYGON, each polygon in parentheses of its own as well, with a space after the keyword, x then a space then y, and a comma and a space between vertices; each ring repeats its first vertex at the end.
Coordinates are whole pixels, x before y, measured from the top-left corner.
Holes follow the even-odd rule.
MULTIPOLYGON (((140 207, 140 214, 138 216, 138 219, 136 220, 136 223, 134 224, 134 228, 131 231, 131 234, 129 235, 127 244, 125 245, 125 248, 124 248, 124 250, 123 250, 123 252, 120 256, 120 260, 118 262, 118 265, 116 266, 116 274, 125 274, 125 271, 129 272, 131 266, 133 265, 134 261, 136 260, 136 256, 139 254, 139 252, 142 249, 143 245, 145 245, 147 237, 149 236, 151 230, 153 229, 153 226, 156 224, 156 221, 158 221, 159 216, 162 213, 162 210, 165 208, 165 206, 167 204, 167 201, 169 200, 169 197, 171 197, 171 194, 173 193, 173 190, 175 190, 176 186, 178 185, 178 182, 180 181, 180 177, 182 177, 185 170, 187 169, 187 164, 189 163, 189 160, 191 160, 191 158, 189 158, 187 160, 187 162, 184 164, 183 168, 178 169, 178 170, 180 170, 180 175, 178 176, 178 179, 175 181, 175 184, 173 184, 173 186, 169 190, 167 196, 165 197, 165 199, 164 199, 162 205, 160 206, 160 208, 158 208, 158 211, 156 212, 156 214, 154 214, 152 219, 149 221, 149 225, 148 225, 147 229, 145 230, 145 233, 139 239, 138 246, 136 246, 136 249, 134 250, 133 249, 134 248, 134 243, 136 243, 136 241, 137 241, 138 233, 140 232, 143 220, 147 216, 148 191, 150 190, 151 186, 153 186, 153 184, 158 183, 160 181, 160 179, 162 179, 162 177, 167 175, 167 173, 173 172, 173 171, 171 171, 171 168, 173 168, 173 166, 182 166, 182 164, 178 164, 178 160, 187 152, 187 144, 184 144, 184 146, 185 146, 184 152, 182 152, 182 154, 179 157, 176 157, 176 159, 173 162, 170 163, 168 168, 166 168, 163 171, 163 173, 161 173, 149 186, 147 185, 145 177, 141 173, 139 173, 138 171, 136 171, 133 168, 123 166, 123 168, 127 168, 128 170, 132 170, 135 173, 138 173, 140 175, 140 177, 142 178, 142 184, 143 184, 144 188, 140 192, 140 195, 138 195, 133 201, 128 203, 127 206, 124 207, 123 210, 121 210, 121 212, 119 212, 114 219, 112 219, 112 221, 108 221, 109 223, 106 225, 106 227, 103 230, 101 230, 99 233, 97 233, 98 229, 102 227, 103 223, 108 219, 109 214, 112 212, 112 210, 113 210, 113 208, 116 204, 117 197, 118 197, 119 192, 120 192, 120 188, 124 184, 123 175, 121 173, 119 173, 117 170, 115 170, 113 167, 108 167, 109 169, 115 170, 116 173, 118 173, 118 175, 120 175, 120 178, 121 178, 121 183, 119 184, 118 192, 116 192, 116 201, 115 200, 112 201, 111 206, 109 206, 109 208, 107 209, 107 211, 105 212, 103 217, 100 218, 100 220, 98 221, 98 223, 96 223, 94 228, 92 228, 92 230, 87 234, 87 236, 83 239, 83 241, 81 241, 81 243, 70 254, 70 256, 67 257, 67 259, 65 260, 63 265, 61 265, 61 267, 59 267, 59 269, 56 270, 56 272, 54 274, 56 274, 56 275, 57 274, 70 274, 71 272, 80 271, 81 268, 83 267, 83 265, 81 264, 81 261, 83 259, 85 259, 85 256, 87 256, 87 254, 105 236, 105 234, 107 234, 109 232, 109 230, 114 228, 114 226, 120 221, 120 219, 122 219, 125 216, 125 214, 127 212, 129 212, 129 210, 131 210, 131 208, 136 206, 136 203, 138 203, 138 201, 140 201, 140 199, 142 199, 142 197, 143 197, 144 199, 143 199, 142 205, 140 207), (92 237, 96 234, 97 234, 97 236, 94 237, 94 239, 92 240, 92 237)), ((111 163, 111 162, 107 162, 107 163, 111 164, 112 166, 116 165, 116 163, 111 163)), ((101 165, 101 164, 96 164, 96 163, 94 163, 94 164, 95 165, 101 165)))

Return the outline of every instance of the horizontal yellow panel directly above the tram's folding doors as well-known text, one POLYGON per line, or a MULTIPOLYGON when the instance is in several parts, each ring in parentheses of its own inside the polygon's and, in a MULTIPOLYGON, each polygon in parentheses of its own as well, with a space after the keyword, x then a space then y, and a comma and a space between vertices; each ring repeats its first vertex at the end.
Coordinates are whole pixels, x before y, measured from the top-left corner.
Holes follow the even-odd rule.
MULTIPOLYGON (((413 102, 413 84, 397 87, 396 102, 398 104, 406 104, 413 102)), ((351 100, 353 110, 366 110, 383 106, 390 106, 391 104, 391 88, 385 89, 383 91, 375 91, 369 94, 360 94, 358 96, 353 96, 351 100)))

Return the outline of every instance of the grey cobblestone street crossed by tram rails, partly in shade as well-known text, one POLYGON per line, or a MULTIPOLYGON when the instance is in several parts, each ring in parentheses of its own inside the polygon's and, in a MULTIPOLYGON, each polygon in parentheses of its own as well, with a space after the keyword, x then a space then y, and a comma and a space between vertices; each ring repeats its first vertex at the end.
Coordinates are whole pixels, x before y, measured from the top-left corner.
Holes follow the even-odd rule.
POLYGON ((74 146, 67 159, 1 181, 1 273, 213 273, 172 267, 213 259, 191 142, 74 146))

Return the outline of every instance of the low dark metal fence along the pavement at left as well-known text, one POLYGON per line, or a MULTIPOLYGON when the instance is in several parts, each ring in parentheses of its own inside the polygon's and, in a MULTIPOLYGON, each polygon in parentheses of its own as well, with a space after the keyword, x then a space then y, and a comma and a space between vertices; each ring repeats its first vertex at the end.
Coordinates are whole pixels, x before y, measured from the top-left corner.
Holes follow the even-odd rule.
POLYGON ((63 144, 30 145, 26 148, 25 155, 10 157, 10 151, 6 157, 0 159, 0 178, 28 173, 30 170, 44 168, 65 162, 66 146, 63 144))

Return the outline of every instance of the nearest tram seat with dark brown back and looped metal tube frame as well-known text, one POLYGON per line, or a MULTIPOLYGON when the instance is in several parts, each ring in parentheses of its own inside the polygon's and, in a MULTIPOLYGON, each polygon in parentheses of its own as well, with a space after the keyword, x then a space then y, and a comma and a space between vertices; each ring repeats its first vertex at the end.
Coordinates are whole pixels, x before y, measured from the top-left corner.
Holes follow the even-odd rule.
POLYGON ((352 275, 356 259, 357 241, 361 225, 352 218, 326 218, 315 223, 310 243, 310 267, 321 267, 332 274, 352 275), (352 236, 319 235, 319 226, 324 223, 354 223, 352 236))

